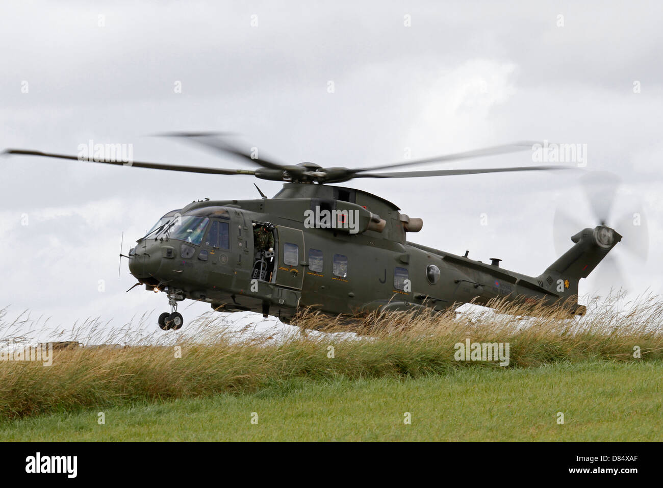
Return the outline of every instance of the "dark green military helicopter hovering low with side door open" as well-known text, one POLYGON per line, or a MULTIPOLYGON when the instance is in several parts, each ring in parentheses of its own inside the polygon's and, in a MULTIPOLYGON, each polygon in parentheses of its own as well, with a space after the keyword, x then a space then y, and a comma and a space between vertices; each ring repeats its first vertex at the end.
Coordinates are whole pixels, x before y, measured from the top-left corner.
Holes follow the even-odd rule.
MULTIPOLYGON (((170 133, 217 153, 235 156, 255 169, 224 169, 131 162, 134 168, 221 175, 252 175, 284 182, 267 198, 257 187, 256 200, 204 200, 164 214, 137 240, 127 256, 129 271, 147 290, 164 292, 170 312, 162 330, 184 324, 178 302, 208 302, 222 312, 252 311, 289 323, 297 310, 313 307, 327 314, 370 310, 446 310, 467 302, 486 305, 494 298, 544 304, 564 303, 570 315, 582 315, 578 282, 586 278, 621 241, 605 225, 579 230, 573 247, 539 276, 503 269, 501 259, 482 263, 408 241, 422 229, 420 218, 363 190, 333 186, 357 178, 418 178, 490 172, 550 171, 556 166, 507 168, 381 170, 452 162, 532 149, 514 143, 407 160, 369 168, 322 168, 312 162, 290 165, 259 158, 229 143, 219 133, 170 133)), ((80 160, 79 156, 9 149, 9 154, 80 160)), ((127 165, 102 159, 95 162, 127 165)), ((133 287, 132 287, 133 288, 133 287)), ((131 288, 130 288, 131 290, 131 288)), ((129 291, 129 290, 127 290, 129 291)))

